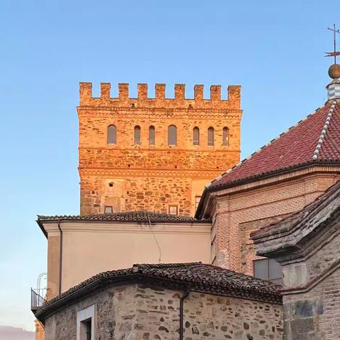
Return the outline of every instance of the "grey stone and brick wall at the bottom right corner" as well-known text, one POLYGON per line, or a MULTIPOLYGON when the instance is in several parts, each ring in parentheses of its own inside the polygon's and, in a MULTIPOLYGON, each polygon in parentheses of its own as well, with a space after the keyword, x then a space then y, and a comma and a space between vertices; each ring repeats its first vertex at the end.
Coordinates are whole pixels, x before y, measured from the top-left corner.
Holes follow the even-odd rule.
POLYGON ((340 223, 305 249, 303 261, 283 263, 285 340, 340 339, 340 223))

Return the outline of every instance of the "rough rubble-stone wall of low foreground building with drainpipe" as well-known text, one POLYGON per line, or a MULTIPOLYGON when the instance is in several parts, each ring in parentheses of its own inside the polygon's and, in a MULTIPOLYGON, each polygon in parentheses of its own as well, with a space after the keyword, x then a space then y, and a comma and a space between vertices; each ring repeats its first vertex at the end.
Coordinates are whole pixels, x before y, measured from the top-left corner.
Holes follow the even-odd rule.
MULTIPOLYGON (((183 292, 149 285, 107 288, 45 321, 46 340, 77 339, 77 312, 95 305, 96 340, 179 339, 183 292)), ((190 293, 184 302, 185 340, 282 339, 282 306, 234 297, 190 293)))

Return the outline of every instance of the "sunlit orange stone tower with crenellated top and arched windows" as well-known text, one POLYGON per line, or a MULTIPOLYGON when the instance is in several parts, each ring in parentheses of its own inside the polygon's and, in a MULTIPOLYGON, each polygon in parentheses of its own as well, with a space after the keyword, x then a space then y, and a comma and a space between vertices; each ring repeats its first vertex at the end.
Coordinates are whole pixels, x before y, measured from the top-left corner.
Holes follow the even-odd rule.
POLYGON ((92 84, 80 83, 79 176, 81 215, 149 210, 193 215, 208 181, 239 162, 240 86, 196 85, 194 98, 185 85, 175 85, 175 98, 166 98, 156 84, 148 98, 147 84, 138 84, 129 98, 128 84, 101 84, 101 97, 92 84))

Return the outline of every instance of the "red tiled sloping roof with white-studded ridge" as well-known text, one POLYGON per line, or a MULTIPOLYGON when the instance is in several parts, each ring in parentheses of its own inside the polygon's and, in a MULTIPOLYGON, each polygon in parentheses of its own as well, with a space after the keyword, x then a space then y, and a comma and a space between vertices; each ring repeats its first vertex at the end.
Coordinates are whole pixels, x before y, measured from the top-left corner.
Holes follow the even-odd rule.
POLYGON ((212 181, 208 191, 319 162, 340 164, 340 104, 336 101, 317 109, 212 181))

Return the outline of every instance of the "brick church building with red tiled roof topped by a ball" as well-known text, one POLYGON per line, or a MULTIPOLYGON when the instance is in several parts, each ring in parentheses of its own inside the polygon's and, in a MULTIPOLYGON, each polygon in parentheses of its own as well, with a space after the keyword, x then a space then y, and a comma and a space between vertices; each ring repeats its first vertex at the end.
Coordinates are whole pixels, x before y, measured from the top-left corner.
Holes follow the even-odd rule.
POLYGON ((249 234, 340 179, 340 76, 333 66, 323 106, 205 187, 196 218, 212 220, 210 259, 217 266, 279 280, 276 263, 256 256, 249 234))

